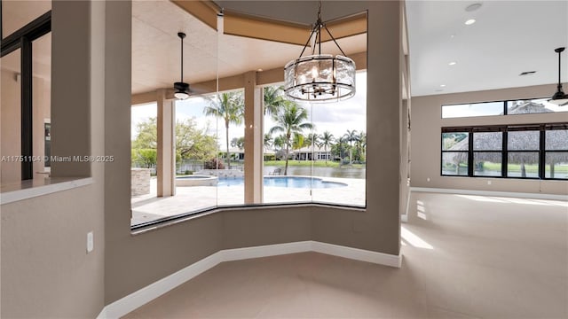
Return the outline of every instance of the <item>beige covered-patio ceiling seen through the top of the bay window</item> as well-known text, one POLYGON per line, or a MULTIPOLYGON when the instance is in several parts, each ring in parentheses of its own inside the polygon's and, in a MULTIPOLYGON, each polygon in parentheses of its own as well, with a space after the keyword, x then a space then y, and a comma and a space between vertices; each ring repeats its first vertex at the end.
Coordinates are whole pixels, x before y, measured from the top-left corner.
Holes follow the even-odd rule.
MULTIPOLYGON (((180 40, 185 32, 184 81, 209 81, 248 71, 282 67, 297 58, 302 46, 234 35, 218 35, 212 28, 169 1, 132 2, 132 93, 170 88, 180 76, 180 40)), ((306 32, 306 40, 308 33, 306 32)), ((338 40, 346 54, 366 51, 367 36, 338 40)), ((333 43, 322 43, 322 51, 333 43)))

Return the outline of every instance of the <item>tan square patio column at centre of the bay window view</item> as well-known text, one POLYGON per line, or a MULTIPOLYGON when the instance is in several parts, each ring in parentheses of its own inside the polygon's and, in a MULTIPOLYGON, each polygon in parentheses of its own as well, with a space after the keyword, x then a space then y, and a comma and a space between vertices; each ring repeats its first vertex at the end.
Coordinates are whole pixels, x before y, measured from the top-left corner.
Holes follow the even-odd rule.
POLYGON ((245 204, 263 202, 263 107, 256 72, 245 74, 245 204))

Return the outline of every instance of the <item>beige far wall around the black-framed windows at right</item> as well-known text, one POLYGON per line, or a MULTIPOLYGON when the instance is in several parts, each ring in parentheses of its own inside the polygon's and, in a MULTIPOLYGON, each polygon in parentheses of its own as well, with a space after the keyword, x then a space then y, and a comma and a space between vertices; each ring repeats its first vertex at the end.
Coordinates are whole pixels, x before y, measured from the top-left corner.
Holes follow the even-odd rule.
MULTIPOLYGON (((565 87, 564 83, 564 87, 565 87)), ((530 124, 568 121, 568 113, 518 114, 472 118, 441 118, 441 105, 548 97, 556 85, 540 85, 515 89, 493 89, 477 92, 413 97, 411 186, 477 191, 514 191, 545 194, 567 194, 568 182, 519 180, 488 177, 453 177, 440 175, 440 129, 442 127, 530 124), (427 179, 430 178, 430 182, 427 179), (487 182, 491 181, 491 185, 487 182)))

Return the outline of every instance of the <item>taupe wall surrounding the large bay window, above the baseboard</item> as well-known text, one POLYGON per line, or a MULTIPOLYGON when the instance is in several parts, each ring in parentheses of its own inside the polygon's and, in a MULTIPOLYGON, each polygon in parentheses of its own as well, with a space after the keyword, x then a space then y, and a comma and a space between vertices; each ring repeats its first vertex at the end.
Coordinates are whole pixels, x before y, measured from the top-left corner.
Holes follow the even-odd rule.
MULTIPOLYGON (((297 12, 315 12, 312 4, 317 8, 317 3, 305 2, 278 2, 278 10, 257 2, 231 4, 242 12, 288 20, 295 20, 297 12)), ((112 10, 106 11, 105 150, 118 159, 105 166, 106 304, 224 248, 312 239, 398 254, 400 4, 327 2, 324 11, 327 17, 369 13, 367 83, 373 89, 367 91, 367 105, 373 106, 367 109, 366 212, 323 207, 240 210, 137 236, 130 235, 130 4, 106 4, 112 10)))

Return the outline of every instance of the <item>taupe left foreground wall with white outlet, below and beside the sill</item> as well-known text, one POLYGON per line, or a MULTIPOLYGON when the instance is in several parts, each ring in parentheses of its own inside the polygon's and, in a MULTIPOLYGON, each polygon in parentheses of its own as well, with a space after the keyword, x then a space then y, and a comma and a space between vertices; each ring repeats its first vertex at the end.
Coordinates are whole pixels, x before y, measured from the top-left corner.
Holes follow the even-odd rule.
MULTIPOLYGON (((61 137, 67 142, 54 155, 103 151, 104 9, 99 1, 53 2, 52 43, 59 50, 52 51, 52 110, 59 128, 66 128, 59 135, 76 137, 61 137)), ((1 206, 1 317, 99 315, 105 294, 103 170, 93 165, 91 185, 1 206), (87 253, 90 231, 94 250, 87 253)))

